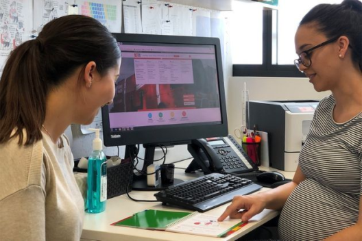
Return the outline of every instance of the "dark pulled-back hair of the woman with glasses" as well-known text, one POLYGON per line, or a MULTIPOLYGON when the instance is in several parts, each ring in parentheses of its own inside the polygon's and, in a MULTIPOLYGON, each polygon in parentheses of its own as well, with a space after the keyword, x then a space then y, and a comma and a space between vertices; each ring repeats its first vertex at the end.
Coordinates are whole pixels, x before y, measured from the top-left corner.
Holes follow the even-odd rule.
POLYGON ((341 4, 319 4, 309 11, 300 25, 315 23, 327 38, 347 36, 352 48, 352 61, 362 71, 362 3, 344 0, 341 4))

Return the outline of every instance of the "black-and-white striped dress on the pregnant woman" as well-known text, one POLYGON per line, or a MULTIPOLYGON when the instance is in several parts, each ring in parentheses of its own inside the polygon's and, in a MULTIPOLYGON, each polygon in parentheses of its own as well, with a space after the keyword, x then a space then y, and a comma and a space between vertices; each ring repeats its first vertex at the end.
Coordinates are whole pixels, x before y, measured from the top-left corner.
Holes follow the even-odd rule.
MULTIPOLYGON (((299 165, 306 179, 282 209, 282 240, 322 240, 357 223, 362 194, 362 113, 333 121, 333 95, 320 101, 299 165)), ((362 211, 362 210, 361 210, 362 211)))

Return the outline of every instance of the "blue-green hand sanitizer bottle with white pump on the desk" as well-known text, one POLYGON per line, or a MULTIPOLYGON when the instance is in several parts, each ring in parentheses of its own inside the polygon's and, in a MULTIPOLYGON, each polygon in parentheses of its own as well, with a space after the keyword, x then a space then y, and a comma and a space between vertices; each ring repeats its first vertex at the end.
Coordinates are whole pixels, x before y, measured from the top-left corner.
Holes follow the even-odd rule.
POLYGON ((99 138, 99 129, 95 131, 93 151, 88 157, 88 189, 87 212, 96 214, 106 209, 107 201, 107 159, 102 151, 102 140, 99 138))

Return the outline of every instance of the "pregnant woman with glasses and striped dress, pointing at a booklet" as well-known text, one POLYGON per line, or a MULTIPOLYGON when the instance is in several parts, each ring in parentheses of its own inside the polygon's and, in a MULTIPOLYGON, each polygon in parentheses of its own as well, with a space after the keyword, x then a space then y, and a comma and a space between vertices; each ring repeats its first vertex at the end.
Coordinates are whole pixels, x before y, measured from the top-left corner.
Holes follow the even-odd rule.
POLYGON ((281 210, 272 238, 362 240, 362 2, 315 6, 300 22, 295 51, 315 90, 332 94, 315 110, 293 180, 234 197, 219 220, 248 221, 267 208, 281 210))

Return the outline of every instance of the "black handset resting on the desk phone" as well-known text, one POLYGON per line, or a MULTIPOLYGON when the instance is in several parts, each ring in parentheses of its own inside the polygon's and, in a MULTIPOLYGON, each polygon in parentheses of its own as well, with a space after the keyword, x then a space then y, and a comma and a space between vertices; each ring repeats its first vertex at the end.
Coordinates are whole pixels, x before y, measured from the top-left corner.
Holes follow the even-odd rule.
POLYGON ((219 155, 205 139, 192 140, 187 149, 204 173, 224 173, 219 155))

